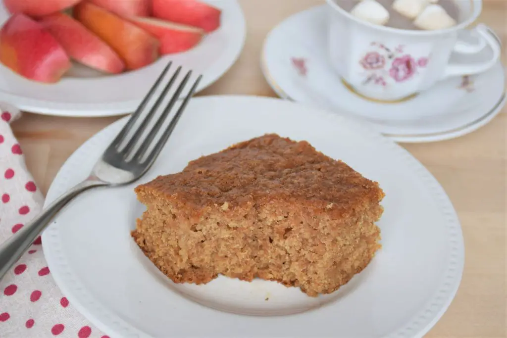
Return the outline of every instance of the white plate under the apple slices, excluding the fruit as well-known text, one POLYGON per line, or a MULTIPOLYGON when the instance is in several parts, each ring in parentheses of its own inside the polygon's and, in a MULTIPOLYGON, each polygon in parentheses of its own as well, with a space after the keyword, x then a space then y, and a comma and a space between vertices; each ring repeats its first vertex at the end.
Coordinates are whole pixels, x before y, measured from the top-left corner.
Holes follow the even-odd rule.
MULTIPOLYGON (((0 64, 0 100, 12 103, 21 110, 47 115, 122 115, 135 110, 169 60, 175 66, 183 66, 180 79, 187 70, 194 71, 188 89, 193 80, 200 73, 203 74, 197 89, 200 91, 222 77, 234 64, 246 37, 245 19, 236 0, 207 2, 222 10, 222 25, 188 52, 166 55, 147 67, 114 76, 104 76, 77 66, 53 85, 29 81, 0 64)), ((0 3, 0 23, 3 24, 8 18, 9 13, 0 3)))

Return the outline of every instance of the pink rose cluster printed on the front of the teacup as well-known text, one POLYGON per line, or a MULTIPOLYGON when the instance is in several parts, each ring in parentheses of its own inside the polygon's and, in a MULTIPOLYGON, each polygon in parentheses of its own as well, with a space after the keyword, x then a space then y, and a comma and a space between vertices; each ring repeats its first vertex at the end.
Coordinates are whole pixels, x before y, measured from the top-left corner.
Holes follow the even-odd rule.
POLYGON ((399 45, 394 49, 384 44, 372 42, 370 46, 376 51, 370 51, 359 60, 359 64, 365 72, 363 85, 372 83, 387 87, 389 83, 400 83, 412 79, 419 68, 425 68, 428 64, 427 57, 414 58, 404 52, 404 46, 399 45))

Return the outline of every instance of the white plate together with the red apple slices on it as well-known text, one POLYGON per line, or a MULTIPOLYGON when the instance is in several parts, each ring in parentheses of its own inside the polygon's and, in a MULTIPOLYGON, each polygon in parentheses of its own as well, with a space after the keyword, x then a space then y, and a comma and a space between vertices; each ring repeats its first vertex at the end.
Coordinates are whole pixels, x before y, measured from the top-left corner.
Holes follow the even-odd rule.
POLYGON ((246 35, 236 0, 0 0, 0 25, 0 100, 73 117, 134 111, 169 61, 200 91, 246 35))

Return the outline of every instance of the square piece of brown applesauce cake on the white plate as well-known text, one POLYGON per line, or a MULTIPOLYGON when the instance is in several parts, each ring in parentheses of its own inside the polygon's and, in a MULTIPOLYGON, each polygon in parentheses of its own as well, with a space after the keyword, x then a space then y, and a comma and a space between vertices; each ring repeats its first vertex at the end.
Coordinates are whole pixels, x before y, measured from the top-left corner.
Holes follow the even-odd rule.
POLYGON ((222 274, 316 296, 347 283, 380 248, 378 183, 276 134, 201 157, 135 193, 147 210, 132 237, 175 283, 222 274))

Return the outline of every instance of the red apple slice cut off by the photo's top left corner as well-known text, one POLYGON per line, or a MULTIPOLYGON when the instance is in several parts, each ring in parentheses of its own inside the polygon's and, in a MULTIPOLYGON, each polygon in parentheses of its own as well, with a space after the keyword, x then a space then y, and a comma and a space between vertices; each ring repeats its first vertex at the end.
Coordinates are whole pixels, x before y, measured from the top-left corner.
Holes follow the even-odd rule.
POLYGON ((81 0, 4 0, 9 12, 23 13, 31 17, 40 17, 73 7, 81 0))

